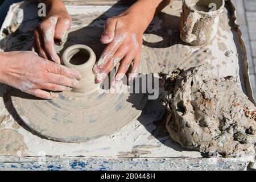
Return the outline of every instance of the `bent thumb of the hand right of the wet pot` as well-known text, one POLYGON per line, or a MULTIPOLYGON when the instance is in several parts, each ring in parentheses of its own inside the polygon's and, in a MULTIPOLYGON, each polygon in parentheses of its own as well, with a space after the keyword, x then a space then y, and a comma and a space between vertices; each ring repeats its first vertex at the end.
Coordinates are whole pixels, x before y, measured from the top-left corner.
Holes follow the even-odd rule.
POLYGON ((115 24, 117 24, 117 19, 109 18, 105 22, 105 30, 101 35, 101 43, 108 44, 112 42, 115 36, 115 24))

